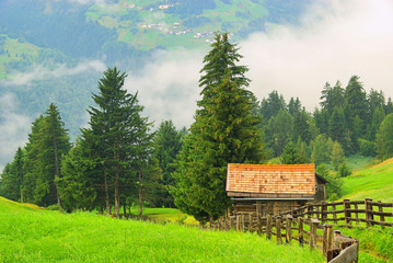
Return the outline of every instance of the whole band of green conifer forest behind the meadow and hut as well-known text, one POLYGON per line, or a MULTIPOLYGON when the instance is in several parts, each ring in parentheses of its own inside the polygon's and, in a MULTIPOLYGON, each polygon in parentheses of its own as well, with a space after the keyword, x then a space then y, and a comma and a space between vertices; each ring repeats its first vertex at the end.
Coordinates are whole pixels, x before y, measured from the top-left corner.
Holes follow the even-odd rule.
POLYGON ((182 129, 164 121, 153 130, 138 93, 124 87, 126 72, 107 68, 91 98, 89 126, 71 142, 60 108, 48 105, 2 171, 0 195, 116 217, 135 206, 140 214, 143 206, 177 207, 206 222, 230 205, 229 162, 315 163, 330 182, 327 197, 336 199, 340 179, 351 173, 346 157, 393 157, 392 99, 366 92, 359 76, 326 82, 320 107, 308 112, 299 98, 286 101, 277 91, 255 98, 241 57, 228 34, 216 35, 200 71, 195 122, 182 129))

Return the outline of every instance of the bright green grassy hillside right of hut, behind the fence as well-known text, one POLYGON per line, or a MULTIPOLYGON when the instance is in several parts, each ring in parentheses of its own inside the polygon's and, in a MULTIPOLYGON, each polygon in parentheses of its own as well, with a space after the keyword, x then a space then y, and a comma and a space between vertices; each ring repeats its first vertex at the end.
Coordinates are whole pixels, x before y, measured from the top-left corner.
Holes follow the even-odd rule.
POLYGON ((393 158, 345 178, 343 198, 393 202, 393 158))

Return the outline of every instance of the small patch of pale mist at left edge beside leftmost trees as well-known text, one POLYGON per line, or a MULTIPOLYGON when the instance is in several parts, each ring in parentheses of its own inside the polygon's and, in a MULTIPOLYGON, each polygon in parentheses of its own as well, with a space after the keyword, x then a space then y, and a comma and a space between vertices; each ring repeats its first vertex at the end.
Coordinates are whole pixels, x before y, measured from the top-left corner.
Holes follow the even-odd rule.
POLYGON ((14 94, 0 96, 0 173, 11 162, 18 147, 27 141, 31 119, 16 113, 18 100, 14 94))

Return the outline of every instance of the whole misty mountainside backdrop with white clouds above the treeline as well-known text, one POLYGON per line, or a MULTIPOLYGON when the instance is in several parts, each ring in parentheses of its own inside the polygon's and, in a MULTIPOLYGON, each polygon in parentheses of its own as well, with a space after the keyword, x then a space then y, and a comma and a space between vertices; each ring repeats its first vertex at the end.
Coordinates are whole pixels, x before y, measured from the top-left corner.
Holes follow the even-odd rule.
POLYGON ((287 101, 299 96, 311 113, 325 82, 345 85, 354 75, 366 91, 393 95, 390 1, 192 2, 161 10, 160 1, 140 9, 131 1, 1 1, 0 165, 26 142, 31 123, 50 102, 74 140, 106 67, 127 71, 126 89, 138 91, 155 127, 164 119, 188 127, 216 31, 239 43, 259 101, 276 90, 287 101))

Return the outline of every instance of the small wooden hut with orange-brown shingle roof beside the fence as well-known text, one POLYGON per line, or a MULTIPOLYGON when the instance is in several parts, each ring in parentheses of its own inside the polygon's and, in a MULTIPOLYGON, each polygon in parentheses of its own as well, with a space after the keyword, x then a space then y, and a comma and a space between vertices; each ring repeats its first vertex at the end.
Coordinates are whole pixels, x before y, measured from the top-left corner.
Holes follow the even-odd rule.
POLYGON ((327 181, 314 164, 228 164, 227 193, 234 214, 277 215, 325 201, 327 181))

